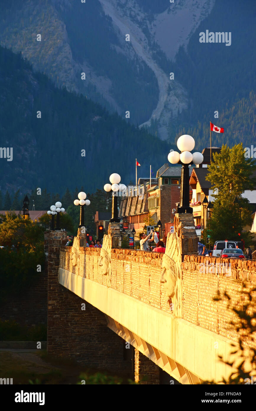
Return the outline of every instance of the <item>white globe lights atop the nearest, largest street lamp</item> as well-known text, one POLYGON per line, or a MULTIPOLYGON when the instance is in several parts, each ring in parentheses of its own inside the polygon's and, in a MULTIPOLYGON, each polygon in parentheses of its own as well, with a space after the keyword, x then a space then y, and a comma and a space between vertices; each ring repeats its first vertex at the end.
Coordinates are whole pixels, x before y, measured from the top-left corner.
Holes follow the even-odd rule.
POLYGON ((195 147, 195 140, 192 136, 184 134, 180 136, 177 141, 177 147, 181 151, 171 151, 168 154, 168 161, 171 164, 177 164, 179 161, 183 164, 201 164, 203 162, 203 154, 200 152, 191 153, 191 150, 195 147))

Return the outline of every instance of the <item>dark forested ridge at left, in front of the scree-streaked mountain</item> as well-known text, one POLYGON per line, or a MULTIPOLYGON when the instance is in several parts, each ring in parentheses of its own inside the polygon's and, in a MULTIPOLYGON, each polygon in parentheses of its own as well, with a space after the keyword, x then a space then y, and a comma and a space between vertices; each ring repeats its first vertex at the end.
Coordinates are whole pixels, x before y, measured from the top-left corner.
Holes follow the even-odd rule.
POLYGON ((149 175, 150 164, 157 170, 166 162, 166 142, 81 94, 57 88, 20 54, 0 47, 0 61, 1 147, 13 148, 12 161, 0 159, 2 192, 47 187, 62 195, 81 186, 94 192, 111 173, 126 185, 134 182, 136 157, 141 177, 149 175))

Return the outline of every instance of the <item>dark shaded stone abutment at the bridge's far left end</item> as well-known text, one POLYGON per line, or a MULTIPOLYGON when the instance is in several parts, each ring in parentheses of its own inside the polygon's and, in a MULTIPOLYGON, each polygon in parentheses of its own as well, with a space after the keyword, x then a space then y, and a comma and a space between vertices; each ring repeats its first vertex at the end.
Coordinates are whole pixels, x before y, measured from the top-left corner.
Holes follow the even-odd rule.
POLYGON ((132 378, 131 361, 124 358, 124 341, 107 328, 103 312, 59 283, 60 247, 67 233, 45 233, 48 253, 47 352, 112 375, 132 378))

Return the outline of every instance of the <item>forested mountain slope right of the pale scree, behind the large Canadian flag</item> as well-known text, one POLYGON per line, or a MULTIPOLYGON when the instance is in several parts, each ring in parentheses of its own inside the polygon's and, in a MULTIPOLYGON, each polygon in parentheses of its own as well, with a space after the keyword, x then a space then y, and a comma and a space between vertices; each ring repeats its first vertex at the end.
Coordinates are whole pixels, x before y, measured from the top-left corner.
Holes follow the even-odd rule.
POLYGON ((170 140, 189 131, 201 148, 209 145, 210 121, 224 127, 213 145, 253 144, 256 131, 256 2, 216 0, 210 16, 180 48, 174 71, 188 91, 190 106, 170 124, 170 140), (231 46, 199 43, 199 33, 231 32, 231 46), (214 118, 214 111, 219 118, 214 118))

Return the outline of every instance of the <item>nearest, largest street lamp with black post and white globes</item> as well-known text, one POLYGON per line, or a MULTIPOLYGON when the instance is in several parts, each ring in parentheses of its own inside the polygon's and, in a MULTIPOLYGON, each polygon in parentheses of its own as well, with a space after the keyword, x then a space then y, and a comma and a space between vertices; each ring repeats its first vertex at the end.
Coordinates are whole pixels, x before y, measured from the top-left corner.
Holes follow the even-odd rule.
POLYGON ((177 208, 178 213, 193 212, 192 207, 189 207, 189 164, 201 164, 203 155, 200 152, 190 152, 195 147, 195 140, 192 136, 184 134, 177 141, 177 147, 180 150, 171 151, 168 154, 168 161, 171 164, 182 164, 181 169, 181 185, 180 185, 180 206, 177 208))

